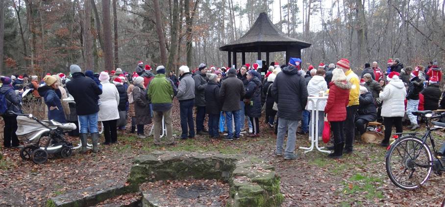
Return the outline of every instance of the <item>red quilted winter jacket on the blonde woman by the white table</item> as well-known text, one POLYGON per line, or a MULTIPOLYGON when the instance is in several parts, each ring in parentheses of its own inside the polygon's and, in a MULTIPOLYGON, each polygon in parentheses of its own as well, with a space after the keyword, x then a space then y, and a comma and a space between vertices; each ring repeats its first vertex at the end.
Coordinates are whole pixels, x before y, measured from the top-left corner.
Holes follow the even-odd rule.
POLYGON ((328 121, 346 120, 346 106, 349 103, 349 90, 351 84, 346 81, 333 81, 329 83, 329 96, 324 113, 328 121))

